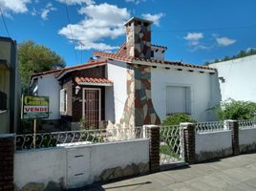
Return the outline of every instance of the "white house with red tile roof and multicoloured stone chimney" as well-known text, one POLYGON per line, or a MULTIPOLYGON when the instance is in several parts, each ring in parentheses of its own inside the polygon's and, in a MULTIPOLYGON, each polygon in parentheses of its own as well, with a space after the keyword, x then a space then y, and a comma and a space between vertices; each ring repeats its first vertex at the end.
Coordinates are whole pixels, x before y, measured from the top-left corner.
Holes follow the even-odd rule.
POLYGON ((151 43, 151 24, 128 20, 126 42, 117 53, 95 52, 86 64, 32 74, 34 94, 50 96, 50 119, 62 118, 72 127, 83 117, 95 127, 104 121, 160 124, 176 113, 214 120, 207 109, 220 101, 216 70, 164 60, 167 48, 151 43))

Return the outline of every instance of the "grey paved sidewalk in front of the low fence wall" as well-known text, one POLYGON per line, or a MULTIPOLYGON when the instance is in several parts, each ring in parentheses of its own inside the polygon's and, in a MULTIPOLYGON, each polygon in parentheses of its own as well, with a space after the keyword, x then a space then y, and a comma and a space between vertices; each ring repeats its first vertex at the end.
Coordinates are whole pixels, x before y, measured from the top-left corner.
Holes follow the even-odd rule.
POLYGON ((89 190, 256 190, 256 154, 194 164, 139 178, 120 180, 89 190))

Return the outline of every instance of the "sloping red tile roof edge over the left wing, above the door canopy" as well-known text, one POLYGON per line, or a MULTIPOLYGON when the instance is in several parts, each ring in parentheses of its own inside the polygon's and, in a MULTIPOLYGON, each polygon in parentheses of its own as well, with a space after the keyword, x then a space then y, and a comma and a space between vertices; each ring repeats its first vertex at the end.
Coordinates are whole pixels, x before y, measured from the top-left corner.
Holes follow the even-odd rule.
POLYGON ((104 64, 104 63, 107 63, 107 61, 105 59, 104 60, 90 61, 90 62, 87 62, 85 64, 66 67, 64 69, 56 69, 56 70, 46 71, 46 72, 42 72, 42 73, 35 73, 35 74, 32 74, 32 77, 41 76, 41 75, 45 75, 45 74, 55 74, 55 76, 57 77, 60 74, 63 74, 65 72, 73 71, 73 70, 76 70, 76 69, 83 69, 83 68, 87 68, 87 67, 90 67, 90 66, 95 66, 95 65, 98 65, 98 64, 104 64))

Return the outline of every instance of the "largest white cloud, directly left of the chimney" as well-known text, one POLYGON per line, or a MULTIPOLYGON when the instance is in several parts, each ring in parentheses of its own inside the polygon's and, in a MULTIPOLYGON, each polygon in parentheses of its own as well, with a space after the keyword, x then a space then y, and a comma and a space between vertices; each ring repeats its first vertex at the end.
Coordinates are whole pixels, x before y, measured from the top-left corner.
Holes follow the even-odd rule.
POLYGON ((117 46, 111 46, 104 42, 106 39, 114 39, 124 34, 123 24, 130 17, 126 8, 118 8, 116 5, 103 3, 82 7, 79 11, 84 19, 76 24, 63 27, 58 33, 69 40, 75 40, 75 49, 96 49, 111 51, 117 46), (72 31, 72 33, 71 33, 72 31), (82 42, 84 46, 80 46, 82 42))

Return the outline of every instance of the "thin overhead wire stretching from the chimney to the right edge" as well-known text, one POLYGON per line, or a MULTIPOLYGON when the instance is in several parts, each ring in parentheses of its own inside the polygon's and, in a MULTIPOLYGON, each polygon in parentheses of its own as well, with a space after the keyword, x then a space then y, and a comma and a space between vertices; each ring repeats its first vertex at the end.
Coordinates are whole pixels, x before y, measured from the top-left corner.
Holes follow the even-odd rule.
POLYGON ((152 32, 210 32, 210 31, 224 31, 224 30, 241 30, 247 28, 256 28, 256 25, 249 25, 249 26, 235 26, 235 27, 223 27, 223 28, 202 28, 202 29, 184 29, 184 30, 159 30, 159 31, 152 31, 152 32))

